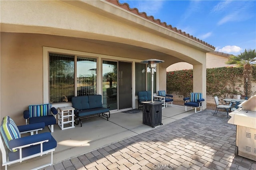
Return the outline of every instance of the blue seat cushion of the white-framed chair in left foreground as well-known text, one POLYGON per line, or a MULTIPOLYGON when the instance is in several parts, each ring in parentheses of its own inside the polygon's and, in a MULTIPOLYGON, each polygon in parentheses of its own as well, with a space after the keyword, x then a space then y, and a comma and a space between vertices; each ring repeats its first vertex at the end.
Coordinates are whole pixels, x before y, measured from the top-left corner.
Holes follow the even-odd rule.
MULTIPOLYGON (((38 135, 42 135, 42 134, 43 133, 38 134, 38 135)), ((57 147, 57 142, 54 139, 54 137, 52 137, 50 132, 45 132, 43 135, 46 136, 47 139, 49 139, 48 142, 43 143, 43 151, 54 149, 57 147)), ((33 136, 35 136, 35 135, 33 135, 33 136)), ((40 152, 40 149, 41 148, 40 148, 39 144, 32 145, 30 147, 26 147, 26 148, 22 149, 22 157, 24 158, 24 157, 30 156, 32 154, 37 154, 40 152)), ((9 158, 9 161, 17 160, 20 158, 20 153, 19 152, 8 152, 8 158, 9 158)))

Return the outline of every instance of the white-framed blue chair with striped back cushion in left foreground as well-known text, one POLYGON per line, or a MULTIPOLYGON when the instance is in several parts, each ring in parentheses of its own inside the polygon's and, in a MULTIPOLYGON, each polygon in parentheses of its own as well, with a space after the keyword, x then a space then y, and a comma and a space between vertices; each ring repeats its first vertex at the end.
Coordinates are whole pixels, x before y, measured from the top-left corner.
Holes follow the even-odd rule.
POLYGON ((9 116, 2 119, 0 126, 0 149, 2 152, 2 166, 5 166, 6 170, 8 165, 36 158, 49 152, 51 152, 50 163, 39 166, 36 169, 52 165, 53 151, 57 146, 57 142, 50 132, 26 137, 21 137, 20 135, 21 133, 33 131, 33 128, 35 131, 38 131, 38 129, 43 129, 44 126, 44 123, 16 126, 9 116))

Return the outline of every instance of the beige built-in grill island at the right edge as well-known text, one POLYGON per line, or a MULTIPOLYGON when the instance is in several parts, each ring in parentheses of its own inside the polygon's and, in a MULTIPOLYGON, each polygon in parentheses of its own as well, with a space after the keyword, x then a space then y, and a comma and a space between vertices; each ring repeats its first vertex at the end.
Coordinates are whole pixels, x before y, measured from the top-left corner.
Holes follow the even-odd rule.
POLYGON ((256 95, 229 115, 228 123, 236 125, 235 154, 256 161, 256 95))

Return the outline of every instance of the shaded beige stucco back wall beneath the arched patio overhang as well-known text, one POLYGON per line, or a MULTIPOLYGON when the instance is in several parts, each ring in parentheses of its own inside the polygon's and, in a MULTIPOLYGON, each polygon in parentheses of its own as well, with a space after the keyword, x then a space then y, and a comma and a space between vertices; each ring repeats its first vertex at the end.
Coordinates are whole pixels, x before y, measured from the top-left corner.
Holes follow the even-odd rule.
MULTIPOLYGON (((123 61, 129 60, 131 56, 154 57, 138 51, 127 51, 70 37, 28 33, 1 33, 0 36, 1 117, 10 115, 17 124, 24 124, 23 111, 28 105, 43 103, 43 46, 104 53, 105 59, 119 56, 123 61)), ((166 82, 166 68, 161 67, 161 70, 165 76, 159 74, 159 81, 166 82)))

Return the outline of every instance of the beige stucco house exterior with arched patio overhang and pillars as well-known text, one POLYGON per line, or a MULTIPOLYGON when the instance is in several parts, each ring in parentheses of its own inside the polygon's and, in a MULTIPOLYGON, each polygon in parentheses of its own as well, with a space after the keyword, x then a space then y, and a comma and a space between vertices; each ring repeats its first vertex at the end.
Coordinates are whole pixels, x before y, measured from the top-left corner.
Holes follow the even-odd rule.
POLYGON ((109 2, 0 1, 0 17, 0 115, 17 124, 24 124, 28 105, 44 102, 44 46, 123 61, 164 60, 157 90, 166 89, 166 68, 185 61, 196 66, 202 79, 193 85, 206 94, 205 55, 212 48, 109 2))

